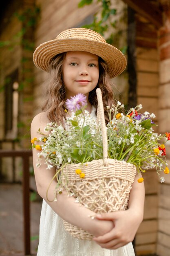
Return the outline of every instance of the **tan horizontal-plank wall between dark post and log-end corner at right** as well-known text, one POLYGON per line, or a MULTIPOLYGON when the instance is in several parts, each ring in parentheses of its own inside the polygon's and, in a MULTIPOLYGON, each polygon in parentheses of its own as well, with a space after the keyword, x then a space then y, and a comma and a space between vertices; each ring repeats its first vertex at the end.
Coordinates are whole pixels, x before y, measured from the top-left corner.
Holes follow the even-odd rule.
MULTIPOLYGON (((159 55, 157 29, 136 14, 137 104, 142 112, 154 113, 158 122, 159 55)), ((157 129, 156 129, 157 132, 157 129)), ((143 174, 146 190, 144 221, 136 235, 137 255, 156 252, 158 230, 158 175, 155 170, 143 174)))

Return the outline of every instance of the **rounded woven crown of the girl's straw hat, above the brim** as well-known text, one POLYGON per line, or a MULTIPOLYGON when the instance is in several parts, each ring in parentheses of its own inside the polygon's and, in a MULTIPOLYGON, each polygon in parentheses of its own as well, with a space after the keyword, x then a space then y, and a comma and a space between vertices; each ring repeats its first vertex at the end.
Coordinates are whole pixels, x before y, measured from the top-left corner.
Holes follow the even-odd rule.
POLYGON ((106 40, 99 33, 83 28, 67 29, 62 31, 55 39, 83 39, 106 43, 106 40))

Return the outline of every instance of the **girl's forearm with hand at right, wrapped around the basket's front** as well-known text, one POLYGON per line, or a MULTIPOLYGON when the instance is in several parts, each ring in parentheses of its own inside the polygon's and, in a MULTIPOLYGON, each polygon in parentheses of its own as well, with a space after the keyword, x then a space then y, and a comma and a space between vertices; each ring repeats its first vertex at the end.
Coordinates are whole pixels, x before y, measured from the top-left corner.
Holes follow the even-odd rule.
POLYGON ((137 175, 130 191, 128 210, 104 213, 96 217, 98 220, 112 220, 115 226, 104 236, 93 238, 101 247, 117 249, 134 239, 144 216, 144 182, 138 183, 138 178, 137 175))

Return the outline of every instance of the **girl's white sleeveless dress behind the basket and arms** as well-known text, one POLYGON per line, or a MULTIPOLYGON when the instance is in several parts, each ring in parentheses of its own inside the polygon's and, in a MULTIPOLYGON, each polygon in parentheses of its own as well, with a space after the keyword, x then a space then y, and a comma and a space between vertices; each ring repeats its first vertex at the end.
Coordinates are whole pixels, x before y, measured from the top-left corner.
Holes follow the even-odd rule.
MULTIPOLYGON (((95 117, 94 107, 91 116, 95 117)), ((74 238, 65 231, 62 218, 43 200, 37 256, 135 256, 135 252, 132 243, 110 250, 94 241, 74 238)))

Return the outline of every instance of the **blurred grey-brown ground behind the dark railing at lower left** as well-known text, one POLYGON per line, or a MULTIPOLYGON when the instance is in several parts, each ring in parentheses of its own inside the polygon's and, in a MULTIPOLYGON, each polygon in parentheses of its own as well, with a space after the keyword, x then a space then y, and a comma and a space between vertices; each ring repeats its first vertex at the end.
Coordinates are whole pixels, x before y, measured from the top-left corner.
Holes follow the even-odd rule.
MULTIPOLYGON (((36 254, 41 200, 31 202, 31 253, 36 254)), ((22 186, 0 184, 0 255, 23 254, 22 186)))

